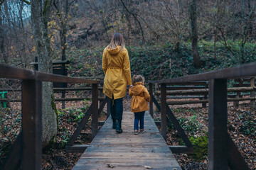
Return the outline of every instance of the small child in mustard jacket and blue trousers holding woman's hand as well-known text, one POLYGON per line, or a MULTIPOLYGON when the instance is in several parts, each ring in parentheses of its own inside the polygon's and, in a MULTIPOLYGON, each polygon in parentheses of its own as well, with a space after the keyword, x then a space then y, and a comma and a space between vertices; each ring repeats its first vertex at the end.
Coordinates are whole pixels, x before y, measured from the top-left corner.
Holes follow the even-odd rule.
POLYGON ((129 96, 132 96, 131 110, 134 112, 134 135, 144 130, 144 114, 149 110, 146 101, 150 101, 149 92, 144 86, 144 77, 141 75, 134 75, 132 77, 132 87, 129 89, 129 96))

